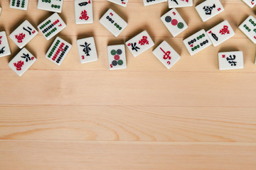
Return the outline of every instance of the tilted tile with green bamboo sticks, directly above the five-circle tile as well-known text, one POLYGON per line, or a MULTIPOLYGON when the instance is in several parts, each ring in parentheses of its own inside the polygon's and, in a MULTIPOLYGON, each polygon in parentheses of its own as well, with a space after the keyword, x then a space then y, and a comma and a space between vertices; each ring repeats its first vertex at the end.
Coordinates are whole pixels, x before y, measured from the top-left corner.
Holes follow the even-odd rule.
POLYGON ((127 22, 118 16, 111 8, 100 18, 100 23, 115 37, 122 33, 124 28, 127 27, 127 22))

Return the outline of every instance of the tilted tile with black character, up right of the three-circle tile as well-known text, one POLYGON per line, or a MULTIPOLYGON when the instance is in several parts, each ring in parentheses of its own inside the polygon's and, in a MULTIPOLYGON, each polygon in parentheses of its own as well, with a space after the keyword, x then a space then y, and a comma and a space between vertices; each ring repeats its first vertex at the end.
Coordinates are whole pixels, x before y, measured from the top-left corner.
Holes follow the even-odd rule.
POLYGON ((201 17, 202 21, 205 22, 224 11, 224 8, 220 3, 220 0, 206 0, 196 6, 196 11, 198 12, 198 15, 201 17))

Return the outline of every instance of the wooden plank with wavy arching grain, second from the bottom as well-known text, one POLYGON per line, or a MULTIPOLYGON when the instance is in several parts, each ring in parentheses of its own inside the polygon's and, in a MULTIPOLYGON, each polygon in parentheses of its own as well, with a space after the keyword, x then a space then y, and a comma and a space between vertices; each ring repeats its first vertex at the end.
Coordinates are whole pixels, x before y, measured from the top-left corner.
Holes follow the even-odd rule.
POLYGON ((0 140, 256 141, 256 108, 1 106, 0 111, 0 140))

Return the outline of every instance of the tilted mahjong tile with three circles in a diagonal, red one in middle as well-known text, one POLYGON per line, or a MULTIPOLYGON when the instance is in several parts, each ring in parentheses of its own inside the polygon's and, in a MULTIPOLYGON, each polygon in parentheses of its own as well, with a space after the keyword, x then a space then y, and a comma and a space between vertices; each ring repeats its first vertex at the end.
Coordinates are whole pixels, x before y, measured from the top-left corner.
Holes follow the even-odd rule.
POLYGON ((183 18, 181 18, 176 8, 172 8, 168 13, 164 14, 164 16, 161 16, 161 21, 174 37, 188 28, 188 25, 183 21, 183 18))

